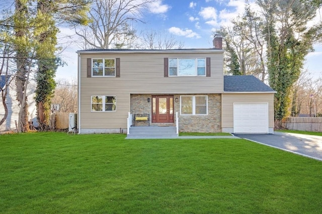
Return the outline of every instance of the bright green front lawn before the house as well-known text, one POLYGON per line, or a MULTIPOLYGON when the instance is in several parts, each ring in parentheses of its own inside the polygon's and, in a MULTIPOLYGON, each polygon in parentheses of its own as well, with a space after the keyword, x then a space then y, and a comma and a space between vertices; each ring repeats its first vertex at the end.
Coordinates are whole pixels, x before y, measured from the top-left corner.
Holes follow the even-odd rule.
POLYGON ((0 135, 1 213, 320 213, 322 162, 244 139, 0 135))

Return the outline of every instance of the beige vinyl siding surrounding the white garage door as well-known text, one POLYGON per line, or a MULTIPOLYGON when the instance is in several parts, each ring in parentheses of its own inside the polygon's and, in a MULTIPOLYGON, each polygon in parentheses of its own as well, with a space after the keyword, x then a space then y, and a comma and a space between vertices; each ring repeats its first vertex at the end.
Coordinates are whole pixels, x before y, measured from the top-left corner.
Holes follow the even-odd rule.
POLYGON ((268 127, 274 128, 274 93, 223 93, 221 128, 233 127, 233 103, 268 102, 268 127))

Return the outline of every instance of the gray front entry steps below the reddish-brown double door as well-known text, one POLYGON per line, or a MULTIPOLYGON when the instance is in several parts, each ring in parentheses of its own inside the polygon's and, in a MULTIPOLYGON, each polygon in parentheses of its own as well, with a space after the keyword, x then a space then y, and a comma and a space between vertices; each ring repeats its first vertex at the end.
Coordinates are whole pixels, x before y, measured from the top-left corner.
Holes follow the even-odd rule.
POLYGON ((167 139, 177 138, 176 127, 138 126, 130 127, 130 134, 126 139, 167 139))

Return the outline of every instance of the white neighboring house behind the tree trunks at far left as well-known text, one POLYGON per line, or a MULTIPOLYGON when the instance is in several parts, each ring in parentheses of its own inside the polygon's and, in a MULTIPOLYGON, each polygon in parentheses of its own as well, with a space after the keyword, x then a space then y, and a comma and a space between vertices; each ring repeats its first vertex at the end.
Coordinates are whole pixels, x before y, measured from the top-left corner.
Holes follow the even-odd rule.
MULTIPOLYGON (((10 77, 9 79, 11 79, 10 77)), ((6 76, 0 76, 0 86, 5 87, 6 76)), ((35 90, 36 82, 29 80, 27 86, 27 96, 28 96, 28 112, 29 112, 29 121, 33 121, 33 125, 36 126, 37 117, 36 117, 36 100, 35 100, 35 90)), ((15 121, 18 121, 18 114, 20 107, 18 105, 18 100, 16 99, 16 84, 15 79, 13 79, 8 87, 8 93, 6 97, 6 103, 8 106, 8 117, 6 121, 0 125, 0 131, 16 130, 15 121)), ((5 108, 2 104, 2 97, 0 96, 0 120, 5 115, 5 108)))

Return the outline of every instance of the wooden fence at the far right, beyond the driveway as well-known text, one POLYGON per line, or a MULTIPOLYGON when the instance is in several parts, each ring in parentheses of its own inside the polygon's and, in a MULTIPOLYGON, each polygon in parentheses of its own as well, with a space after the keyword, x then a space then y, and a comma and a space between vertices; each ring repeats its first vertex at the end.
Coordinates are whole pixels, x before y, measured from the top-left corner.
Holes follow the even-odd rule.
POLYGON ((283 127, 290 130, 322 132, 322 118, 285 118, 283 127))

